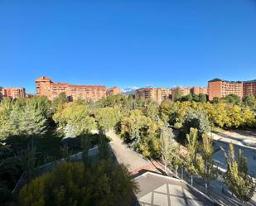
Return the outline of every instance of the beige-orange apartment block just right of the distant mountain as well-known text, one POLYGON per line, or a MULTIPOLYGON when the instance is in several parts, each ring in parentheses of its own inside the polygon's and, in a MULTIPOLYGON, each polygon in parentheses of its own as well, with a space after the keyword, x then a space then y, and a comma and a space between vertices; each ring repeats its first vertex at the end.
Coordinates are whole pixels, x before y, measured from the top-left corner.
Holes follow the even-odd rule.
POLYGON ((136 98, 152 99, 161 103, 165 99, 171 98, 171 89, 165 88, 141 88, 136 90, 136 98))

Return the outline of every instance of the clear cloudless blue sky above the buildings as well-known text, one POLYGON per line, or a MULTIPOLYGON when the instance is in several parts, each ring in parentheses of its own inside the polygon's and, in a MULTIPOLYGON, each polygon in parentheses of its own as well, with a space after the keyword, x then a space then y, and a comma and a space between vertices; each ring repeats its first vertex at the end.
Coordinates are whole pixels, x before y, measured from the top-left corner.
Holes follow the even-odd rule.
POLYGON ((0 0, 0 85, 256 79, 255 0, 0 0))

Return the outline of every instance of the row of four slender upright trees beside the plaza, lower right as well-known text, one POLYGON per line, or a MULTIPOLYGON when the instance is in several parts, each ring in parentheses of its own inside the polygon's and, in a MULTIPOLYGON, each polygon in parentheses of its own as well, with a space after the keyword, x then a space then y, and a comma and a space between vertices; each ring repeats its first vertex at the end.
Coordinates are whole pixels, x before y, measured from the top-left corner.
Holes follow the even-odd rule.
POLYGON ((193 176, 205 180, 205 193, 208 191, 210 182, 222 176, 230 191, 244 205, 254 196, 256 188, 256 183, 249 174, 247 160, 241 150, 235 154, 232 144, 229 144, 229 151, 225 151, 223 148, 222 150, 225 153, 227 164, 224 174, 221 174, 215 165, 213 142, 208 135, 204 133, 200 141, 198 130, 191 127, 190 132, 186 135, 186 155, 182 156, 171 128, 167 124, 162 127, 160 153, 165 170, 167 170, 167 165, 175 170, 184 165, 186 172, 191 175, 191 185, 193 185, 193 176))

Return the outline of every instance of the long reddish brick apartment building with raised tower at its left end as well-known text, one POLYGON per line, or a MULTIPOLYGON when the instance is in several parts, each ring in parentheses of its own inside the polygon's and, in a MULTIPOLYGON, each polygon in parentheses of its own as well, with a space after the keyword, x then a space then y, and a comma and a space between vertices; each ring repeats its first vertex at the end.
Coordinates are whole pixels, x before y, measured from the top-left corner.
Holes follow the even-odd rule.
POLYGON ((46 96, 49 99, 56 98, 65 92, 70 100, 85 99, 85 101, 97 101, 105 98, 107 89, 105 86, 72 85, 68 83, 54 83, 48 77, 36 79, 36 95, 46 96))

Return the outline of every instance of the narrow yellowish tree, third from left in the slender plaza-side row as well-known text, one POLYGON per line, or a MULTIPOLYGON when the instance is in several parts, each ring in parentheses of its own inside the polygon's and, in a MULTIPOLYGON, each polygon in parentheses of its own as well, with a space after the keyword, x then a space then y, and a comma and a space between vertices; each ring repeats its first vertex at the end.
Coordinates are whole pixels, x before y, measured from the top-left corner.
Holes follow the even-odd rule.
POLYGON ((215 167, 214 160, 212 160, 214 153, 212 139, 204 134, 202 141, 202 150, 198 159, 198 173, 205 180, 205 192, 207 193, 210 181, 215 180, 218 175, 218 169, 215 167))

